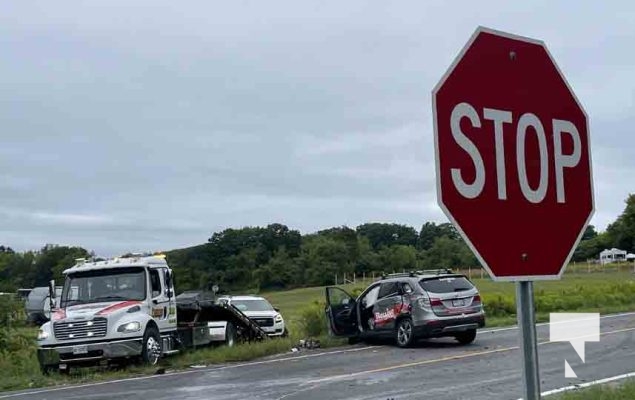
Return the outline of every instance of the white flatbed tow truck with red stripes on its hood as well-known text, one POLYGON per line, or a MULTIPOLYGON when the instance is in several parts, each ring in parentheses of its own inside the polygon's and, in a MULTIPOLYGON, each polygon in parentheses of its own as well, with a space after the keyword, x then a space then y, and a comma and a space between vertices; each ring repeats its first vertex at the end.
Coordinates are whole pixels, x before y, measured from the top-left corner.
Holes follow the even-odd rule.
POLYGON ((174 273, 162 254, 78 259, 64 276, 59 299, 50 282, 53 311, 37 336, 44 373, 131 360, 155 365, 185 348, 268 338, 215 292, 175 296, 174 273))

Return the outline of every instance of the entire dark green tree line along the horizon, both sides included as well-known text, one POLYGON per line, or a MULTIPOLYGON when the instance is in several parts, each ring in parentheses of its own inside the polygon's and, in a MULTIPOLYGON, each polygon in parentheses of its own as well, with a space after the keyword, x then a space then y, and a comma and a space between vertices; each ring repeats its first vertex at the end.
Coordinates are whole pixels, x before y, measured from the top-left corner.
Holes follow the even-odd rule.
MULTIPOLYGON (((589 226, 573 261, 597 259, 605 248, 635 252, 635 195, 606 231, 589 226)), ((177 291, 218 285, 224 291, 276 290, 334 283, 335 275, 428 268, 479 267, 449 223, 424 223, 419 230, 394 223, 333 227, 302 235, 284 224, 229 228, 206 243, 166 252, 177 291)), ((76 258, 94 254, 81 247, 46 245, 15 252, 0 246, 0 292, 45 286, 62 279, 76 258)))

